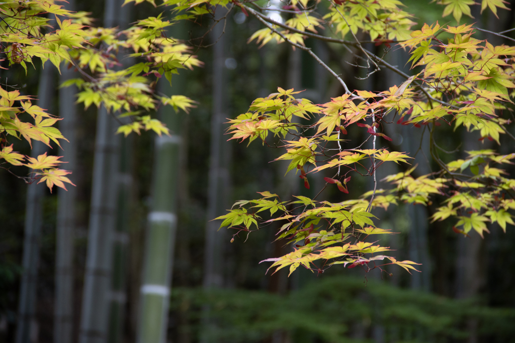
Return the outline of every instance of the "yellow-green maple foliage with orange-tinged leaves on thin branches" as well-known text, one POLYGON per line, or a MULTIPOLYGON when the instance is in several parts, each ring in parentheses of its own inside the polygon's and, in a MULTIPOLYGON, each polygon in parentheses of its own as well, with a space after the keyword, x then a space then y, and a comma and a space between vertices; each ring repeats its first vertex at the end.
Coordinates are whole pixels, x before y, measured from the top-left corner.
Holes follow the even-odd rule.
MULTIPOLYGON (((127 3, 131 1, 125 6, 132 6, 127 3)), ((0 5, 0 52, 8 68, 27 70, 30 65, 49 60, 58 69, 64 65, 77 69, 81 77, 62 86, 76 85, 80 89, 78 102, 85 107, 104 105, 118 119, 129 117, 130 122, 118 129, 127 136, 141 131, 169 133, 161 121, 143 112, 166 105, 176 111, 194 106, 191 99, 163 95, 155 87, 156 80, 163 76, 171 81, 180 69, 202 64, 193 52, 202 37, 190 41, 169 37, 167 29, 175 22, 200 23, 204 18, 216 18, 209 31, 213 25, 223 26, 227 19, 227 14, 220 18, 216 11, 242 11, 262 24, 249 41, 261 45, 283 43, 305 50, 338 80, 345 94, 315 104, 301 98, 301 89, 278 87, 277 93, 255 99, 247 113, 229 120, 229 138, 285 149, 278 160, 289 161, 285 172, 296 173, 306 188, 310 188, 310 178, 322 170, 331 173, 324 178, 323 188, 336 187, 342 194, 348 193, 359 177, 373 181, 361 197, 339 203, 298 194, 282 199, 266 190, 256 200, 236 202, 218 218, 223 220, 222 227, 235 229, 233 240, 245 239, 250 232, 278 221, 278 239, 295 244, 287 255, 265 260, 273 262, 271 268, 289 267, 290 274, 299 266, 322 273, 335 264, 367 271, 383 270, 388 264, 408 272, 416 270, 417 261, 398 261, 391 256, 394 254, 383 255, 388 247, 368 238, 392 233, 374 222, 372 210, 399 203, 428 205, 439 201, 441 207, 432 219, 454 221, 454 230, 464 235, 483 237, 488 222, 498 223, 503 230, 507 224, 515 224, 510 214, 515 209, 515 179, 502 169, 503 164, 512 164, 515 152, 501 153, 499 147, 467 151, 465 159, 443 161, 443 149, 435 138, 443 128, 464 127, 470 134, 477 131, 480 139, 497 145, 500 135, 515 140, 507 129, 512 121, 515 47, 478 40, 474 38, 477 28, 459 25, 463 14, 471 16, 470 6, 497 15, 498 8, 506 8, 501 0, 483 0, 481 4, 442 0, 439 5, 444 6, 443 16, 452 14, 457 24, 424 24, 415 31, 411 30, 415 17, 397 0, 332 0, 329 4, 291 0, 275 8, 237 0, 169 0, 154 5, 169 11, 172 19, 165 19, 167 13, 117 30, 94 27, 88 13, 65 10, 54 1, 7 1, 0 5), (270 10, 289 19, 284 23, 273 20, 267 16, 270 10), (405 82, 382 92, 351 91, 345 77, 306 47, 306 38, 345 46, 366 70, 365 78, 386 68, 405 82), (403 49, 410 56, 413 74, 389 64, 385 56, 375 55, 366 44, 403 49), (117 58, 121 51, 137 62, 124 68, 117 58), (428 157, 434 162, 434 170, 418 174, 417 166, 410 164, 413 156, 395 151, 388 144, 391 138, 385 134, 386 125, 408 125, 428 135, 428 157), (366 131, 368 138, 346 139, 350 130, 366 131), (393 185, 389 190, 377 188, 376 170, 384 163, 399 164, 404 170, 386 177, 393 185), (270 219, 265 211, 269 211, 270 219)), ((0 92, 1 167, 8 170, 9 165, 24 165, 33 170, 27 182, 37 180, 50 189, 53 185, 65 188, 64 183, 71 183, 66 177, 70 172, 58 168, 63 162, 60 157, 46 153, 37 158, 24 156, 16 152, 14 141, 23 138, 29 143, 37 140, 49 145, 53 141, 59 145, 59 140, 65 139, 53 126, 59 118, 33 105, 35 98, 21 95, 15 85, 3 84, 0 92)))

